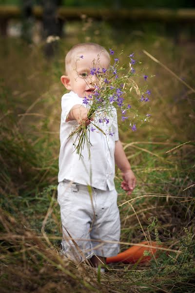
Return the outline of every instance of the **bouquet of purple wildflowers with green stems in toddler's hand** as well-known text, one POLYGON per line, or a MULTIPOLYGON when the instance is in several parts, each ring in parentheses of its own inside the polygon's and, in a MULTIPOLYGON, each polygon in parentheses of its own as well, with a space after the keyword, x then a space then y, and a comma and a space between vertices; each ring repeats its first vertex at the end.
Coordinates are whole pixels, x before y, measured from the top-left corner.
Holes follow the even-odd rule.
MULTIPOLYGON (((148 76, 144 74, 144 68, 141 74, 135 69, 137 62, 134 59, 134 53, 128 56, 127 65, 120 64, 118 58, 114 58, 114 51, 110 50, 111 63, 109 68, 101 68, 100 63, 94 60, 90 75, 96 75, 98 82, 94 84, 94 92, 83 98, 83 105, 88 108, 88 119, 91 121, 89 126, 79 125, 69 135, 76 135, 74 146, 77 153, 81 156, 84 144, 90 143, 90 131, 98 129, 104 135, 113 135, 109 129, 109 120, 113 107, 121 112, 121 120, 129 121, 129 127, 132 131, 137 130, 137 123, 145 123, 149 121, 150 114, 139 113, 142 104, 148 103, 151 91, 147 88, 148 76), (140 89, 135 78, 141 77, 145 85, 140 89), (95 119, 97 118, 98 119, 95 119), (95 124, 98 121, 98 125, 95 124), (101 123, 108 125, 108 131, 105 133, 101 128, 101 123), (91 126, 92 125, 92 126, 91 126)), ((82 58, 82 56, 80 56, 82 58)), ((85 77, 83 77, 85 78, 85 77)), ((90 149, 90 147, 89 147, 90 149)), ((89 152, 90 153, 90 152, 89 152)))

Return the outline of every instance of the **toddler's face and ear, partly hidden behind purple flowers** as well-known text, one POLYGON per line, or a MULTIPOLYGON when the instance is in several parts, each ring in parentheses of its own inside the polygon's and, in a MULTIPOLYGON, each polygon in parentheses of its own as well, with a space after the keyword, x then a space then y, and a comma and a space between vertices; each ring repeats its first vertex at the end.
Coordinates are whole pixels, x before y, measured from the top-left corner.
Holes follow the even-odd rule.
POLYGON ((99 55, 97 51, 77 53, 68 68, 68 75, 61 77, 62 84, 81 98, 92 94, 95 85, 98 85, 99 77, 97 74, 92 75, 91 69, 96 68, 101 74, 102 68, 107 69, 110 63, 109 57, 104 52, 99 55), (83 58, 79 58, 82 55, 83 58))

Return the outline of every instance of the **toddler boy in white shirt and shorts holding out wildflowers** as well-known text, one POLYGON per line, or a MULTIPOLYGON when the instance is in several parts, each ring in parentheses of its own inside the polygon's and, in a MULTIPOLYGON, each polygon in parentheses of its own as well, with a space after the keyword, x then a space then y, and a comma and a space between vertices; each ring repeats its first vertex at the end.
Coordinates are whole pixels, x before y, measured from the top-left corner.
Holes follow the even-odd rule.
MULTIPOLYGON (((98 76, 107 69, 110 55, 95 43, 78 43, 65 58, 65 75, 61 83, 70 92, 61 100, 58 202, 63 230, 62 248, 66 256, 77 261, 90 259, 94 267, 119 252, 120 219, 115 189, 115 164, 122 172, 121 188, 131 194, 136 177, 118 139, 117 112, 112 111, 98 129, 89 126, 87 107, 83 104, 94 94, 98 76), (98 69, 99 68, 99 69, 98 69), (109 118, 109 119, 108 119, 109 118), (76 137, 69 137, 75 126, 89 126, 89 145, 82 156, 75 151, 76 137), (107 133, 108 134, 108 133, 107 133)), ((96 125, 97 117, 94 117, 96 125)))

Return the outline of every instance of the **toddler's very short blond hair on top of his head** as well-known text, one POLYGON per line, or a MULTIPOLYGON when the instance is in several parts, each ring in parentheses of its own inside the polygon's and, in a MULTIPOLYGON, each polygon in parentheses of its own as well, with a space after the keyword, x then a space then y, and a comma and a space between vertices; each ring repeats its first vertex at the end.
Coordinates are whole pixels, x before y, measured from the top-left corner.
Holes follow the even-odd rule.
POLYGON ((78 54, 78 57, 79 57, 79 53, 82 54, 82 51, 86 50, 86 49, 95 50, 98 52, 98 54, 103 52, 110 60, 110 55, 109 55, 108 51, 104 47, 102 47, 101 45, 93 43, 93 42, 78 43, 78 44, 74 45, 66 54, 66 57, 65 57, 65 71, 66 71, 66 73, 67 73, 67 69, 71 64, 71 61, 72 61, 74 55, 78 54))

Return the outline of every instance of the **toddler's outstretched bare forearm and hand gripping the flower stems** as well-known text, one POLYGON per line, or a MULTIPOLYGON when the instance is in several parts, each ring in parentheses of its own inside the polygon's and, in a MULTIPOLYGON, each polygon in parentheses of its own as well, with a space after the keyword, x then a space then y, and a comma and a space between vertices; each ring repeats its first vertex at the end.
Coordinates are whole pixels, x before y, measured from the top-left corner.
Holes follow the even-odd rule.
POLYGON ((85 124, 85 126, 88 126, 90 120, 87 117, 87 113, 88 110, 83 105, 74 105, 66 118, 66 122, 76 120, 78 124, 85 124))

